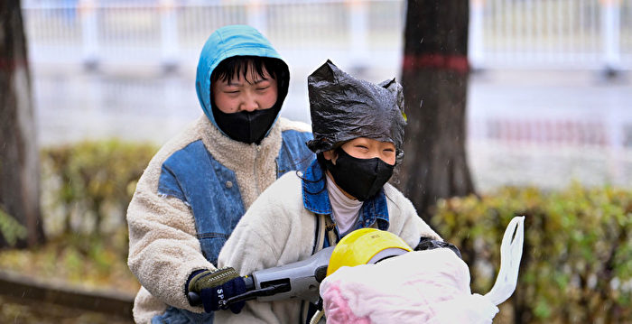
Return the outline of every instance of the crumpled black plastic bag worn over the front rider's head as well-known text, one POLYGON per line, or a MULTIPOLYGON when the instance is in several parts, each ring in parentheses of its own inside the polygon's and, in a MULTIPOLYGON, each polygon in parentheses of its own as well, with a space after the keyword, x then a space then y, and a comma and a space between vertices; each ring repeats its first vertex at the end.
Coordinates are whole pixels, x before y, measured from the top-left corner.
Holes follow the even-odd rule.
POLYGON ((403 156, 404 93, 395 79, 379 85, 356 79, 330 60, 307 78, 311 131, 307 146, 314 153, 329 151, 357 137, 395 144, 403 156))

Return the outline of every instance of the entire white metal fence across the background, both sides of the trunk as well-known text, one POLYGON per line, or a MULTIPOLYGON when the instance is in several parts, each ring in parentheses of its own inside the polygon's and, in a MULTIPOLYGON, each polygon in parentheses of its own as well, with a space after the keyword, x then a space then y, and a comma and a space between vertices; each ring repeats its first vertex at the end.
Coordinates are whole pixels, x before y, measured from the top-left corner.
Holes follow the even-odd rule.
MULTIPOLYGON (((295 64, 399 66, 402 0, 27 0, 35 63, 195 64, 209 33, 247 23, 295 64), (295 60, 294 60, 295 59, 295 60)), ((632 69, 632 0, 471 0, 475 68, 632 69)))

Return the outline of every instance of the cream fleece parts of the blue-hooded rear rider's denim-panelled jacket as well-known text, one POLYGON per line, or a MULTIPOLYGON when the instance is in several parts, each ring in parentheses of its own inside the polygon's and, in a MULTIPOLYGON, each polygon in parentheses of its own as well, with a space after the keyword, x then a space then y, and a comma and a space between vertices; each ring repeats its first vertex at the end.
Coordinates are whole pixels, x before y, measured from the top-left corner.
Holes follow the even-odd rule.
POLYGON ((218 162, 235 171, 244 207, 248 208, 276 179, 281 134, 291 129, 311 132, 309 125, 279 118, 260 145, 246 144, 221 134, 202 115, 153 156, 127 209, 127 264, 142 285, 134 303, 135 322, 151 322, 167 305, 202 312, 201 307, 189 305, 184 285, 192 272, 216 268, 201 253, 191 208, 181 199, 158 195, 163 162, 189 143, 201 140, 218 162))

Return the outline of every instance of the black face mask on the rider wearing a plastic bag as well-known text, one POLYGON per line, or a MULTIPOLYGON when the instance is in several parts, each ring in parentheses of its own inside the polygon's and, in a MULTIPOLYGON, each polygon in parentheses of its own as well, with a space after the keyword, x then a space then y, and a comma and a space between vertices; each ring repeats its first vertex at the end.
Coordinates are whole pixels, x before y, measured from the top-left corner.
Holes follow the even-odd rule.
POLYGON ((330 171, 340 189, 360 201, 375 196, 393 175, 395 165, 388 164, 379 158, 358 159, 341 148, 336 149, 336 153, 338 153, 336 164, 326 160, 325 167, 330 171))

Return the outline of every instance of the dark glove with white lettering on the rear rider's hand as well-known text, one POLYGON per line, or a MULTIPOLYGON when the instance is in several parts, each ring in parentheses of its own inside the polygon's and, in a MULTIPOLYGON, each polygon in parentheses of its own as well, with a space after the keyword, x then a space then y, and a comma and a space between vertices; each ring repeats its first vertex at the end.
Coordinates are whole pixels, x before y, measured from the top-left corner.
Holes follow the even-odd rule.
POLYGON ((246 301, 226 304, 229 298, 246 292, 244 278, 231 267, 191 274, 188 290, 200 295, 204 311, 208 313, 230 309, 237 314, 246 305, 246 301))

